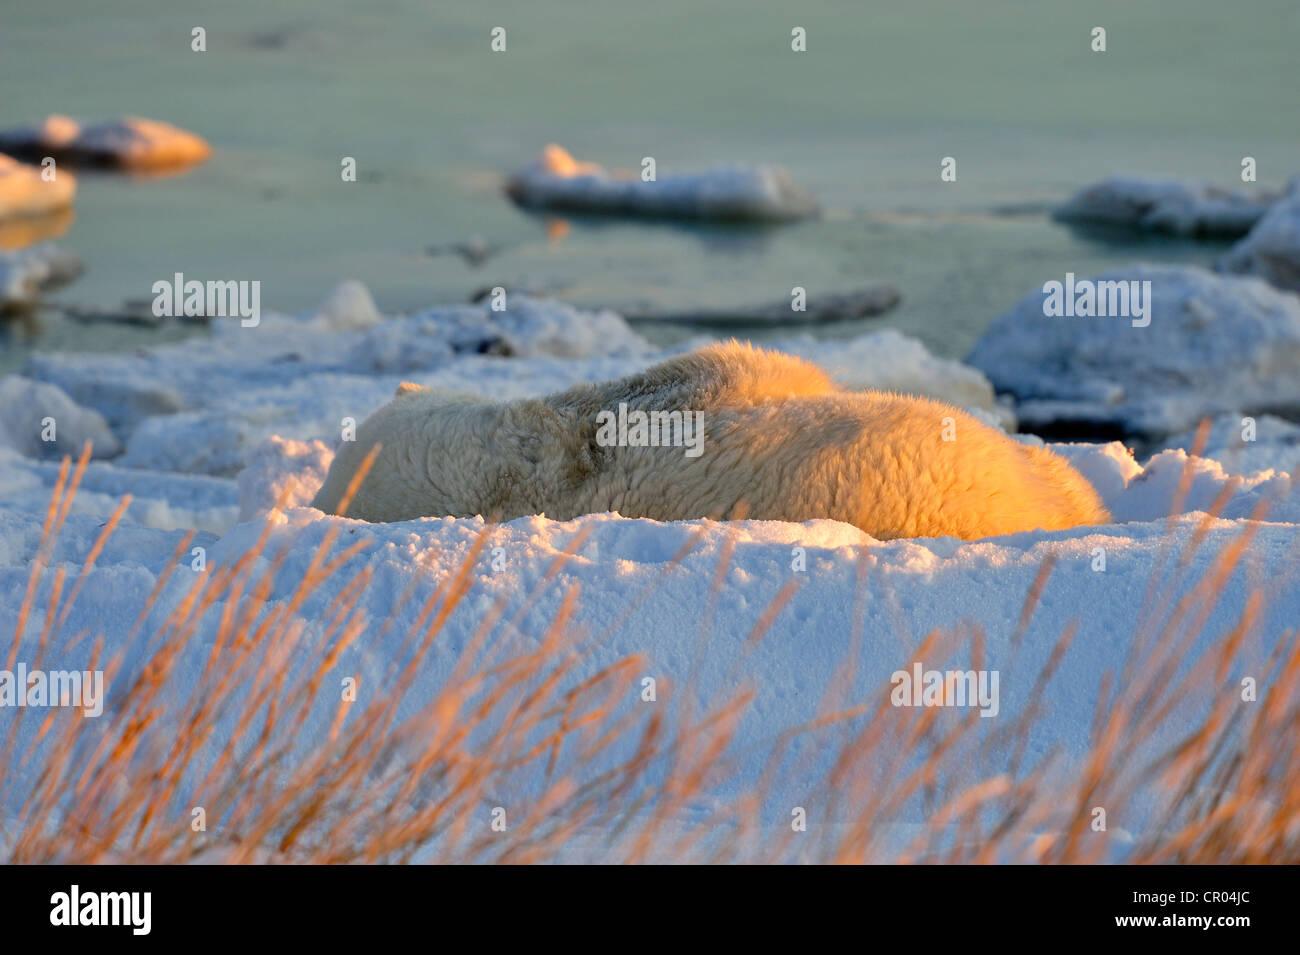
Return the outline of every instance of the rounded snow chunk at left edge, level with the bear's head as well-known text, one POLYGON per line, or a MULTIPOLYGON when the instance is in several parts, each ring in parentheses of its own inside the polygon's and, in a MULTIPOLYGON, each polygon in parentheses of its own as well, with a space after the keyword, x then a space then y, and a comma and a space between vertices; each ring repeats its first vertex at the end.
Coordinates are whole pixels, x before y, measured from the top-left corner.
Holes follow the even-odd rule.
POLYGON ((0 378, 0 446, 29 457, 75 457, 87 440, 92 457, 122 452, 122 443, 94 408, 81 407, 55 385, 16 374, 0 378))

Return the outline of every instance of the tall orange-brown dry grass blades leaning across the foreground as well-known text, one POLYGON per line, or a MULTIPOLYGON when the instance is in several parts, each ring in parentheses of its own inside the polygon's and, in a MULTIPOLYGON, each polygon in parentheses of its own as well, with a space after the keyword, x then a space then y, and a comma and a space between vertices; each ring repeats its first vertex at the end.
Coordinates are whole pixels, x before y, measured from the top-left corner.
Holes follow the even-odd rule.
MULTIPOLYGON (((42 665, 127 507, 124 500, 105 524, 70 589, 62 567, 48 574, 87 460, 87 453, 75 465, 65 460, 60 472, 8 652, 10 669, 20 647, 32 654, 29 667, 42 665), (47 577, 44 622, 32 644, 23 638, 47 577)), ((1098 696, 1082 761, 1026 752, 1030 729, 1048 717, 1044 687, 1069 651, 1074 624, 1028 677, 1034 703, 1014 720, 997 720, 994 730, 980 726, 974 709, 963 717, 894 709, 888 685, 870 699, 854 698, 866 638, 858 624, 816 719, 771 741, 762 777, 725 800, 714 794, 744 761, 737 726, 754 699, 741 681, 742 657, 734 693, 707 706, 692 703, 689 693, 660 702, 668 706, 629 706, 642 674, 634 656, 576 676, 602 637, 646 612, 655 583, 634 595, 606 633, 573 625, 580 595, 569 591, 526 648, 502 638, 517 631, 582 535, 512 617, 504 603, 482 615, 451 677, 432 699, 411 704, 421 661, 474 585, 485 530, 456 572, 420 603, 385 693, 332 704, 328 732, 311 735, 320 726, 312 715, 338 696, 326 677, 341 655, 363 638, 389 635, 412 607, 416 581, 384 621, 368 620, 361 598, 370 570, 346 573, 368 543, 342 546, 343 525, 335 522, 294 579, 291 596, 270 600, 286 555, 268 551, 268 521, 256 547, 196 577, 161 622, 150 621, 165 574, 125 642, 95 638, 91 665, 103 667, 113 687, 101 719, 64 709, 6 713, 0 854, 13 863, 1297 861, 1300 641, 1292 629, 1266 659, 1245 651, 1265 618, 1269 587, 1278 586, 1274 576, 1254 579, 1235 625, 1209 634, 1209 648, 1190 656, 1227 581, 1254 573, 1248 556, 1257 525, 1249 522, 1191 578, 1212 520, 1182 550, 1169 534, 1128 656, 1098 696), (308 626, 300 611, 313 595, 328 603, 308 626), (182 660, 204 624, 211 646, 195 676, 182 660), (125 647, 136 638, 144 663, 126 674, 125 647), (503 654, 506 647, 511 652, 503 654), (1240 699, 1244 661, 1258 681, 1256 703, 1240 699), (1170 726, 1182 728, 1176 745, 1153 750, 1150 741, 1167 737, 1170 726), (796 746, 807 739, 816 745, 796 746), (790 774, 801 774, 811 794, 806 832, 796 832, 789 807, 774 809, 770 798, 774 782, 790 774), (489 824, 498 804, 507 808, 504 832, 489 824), (207 813, 205 830, 191 825, 194 806, 207 813), (1108 808, 1110 826, 1140 806, 1143 825, 1131 838, 1093 832, 1097 806, 1108 808), (909 825, 918 807, 924 822, 909 825)), ((188 546, 190 538, 179 543, 173 564, 188 546)), ((701 644, 732 552, 731 543, 723 547, 701 644)), ((1296 565, 1291 560, 1288 570, 1296 565)), ((854 620, 862 621, 864 554, 858 570, 854 620)), ((1022 646, 1052 570, 1045 563, 1027 594, 1013 648, 1022 646)), ((786 585, 754 621, 742 655, 763 639, 794 587, 786 585)), ((974 628, 935 631, 900 667, 965 655, 980 668, 984 642, 974 628)))

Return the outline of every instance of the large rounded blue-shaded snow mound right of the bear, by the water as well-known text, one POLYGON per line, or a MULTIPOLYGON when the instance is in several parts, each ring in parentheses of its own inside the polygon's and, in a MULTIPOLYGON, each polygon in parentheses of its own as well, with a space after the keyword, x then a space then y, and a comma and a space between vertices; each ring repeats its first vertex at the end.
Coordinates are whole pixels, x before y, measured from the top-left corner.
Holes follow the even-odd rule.
POLYGON ((1300 413, 1300 299, 1260 279, 1138 265, 1150 322, 1048 317, 1044 291, 997 317, 967 363, 1017 399, 1028 430, 1164 437, 1234 409, 1300 413))

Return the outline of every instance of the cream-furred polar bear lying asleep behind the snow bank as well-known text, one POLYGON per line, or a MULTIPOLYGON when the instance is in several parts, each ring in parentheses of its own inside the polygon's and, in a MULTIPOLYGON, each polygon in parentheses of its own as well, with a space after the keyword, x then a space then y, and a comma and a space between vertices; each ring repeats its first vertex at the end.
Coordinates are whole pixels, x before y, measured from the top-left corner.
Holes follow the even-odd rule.
POLYGON ((940 401, 842 390, 802 359, 737 342, 541 399, 403 385, 343 444, 312 505, 334 513, 376 444, 347 508, 365 521, 616 511, 659 521, 832 518, 879 539, 1109 521, 1092 486, 1045 448, 940 401), (624 427, 637 412, 681 414, 672 426, 660 417, 655 447, 624 427))

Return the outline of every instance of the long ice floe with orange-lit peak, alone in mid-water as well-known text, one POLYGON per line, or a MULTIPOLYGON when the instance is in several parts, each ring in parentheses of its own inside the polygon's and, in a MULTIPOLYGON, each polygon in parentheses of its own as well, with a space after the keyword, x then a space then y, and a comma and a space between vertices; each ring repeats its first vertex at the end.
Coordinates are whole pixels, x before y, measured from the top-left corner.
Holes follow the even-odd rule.
POLYGON ((511 177, 506 192, 525 208, 606 216, 779 222, 818 210, 780 166, 714 166, 644 182, 578 162, 555 144, 511 177))

